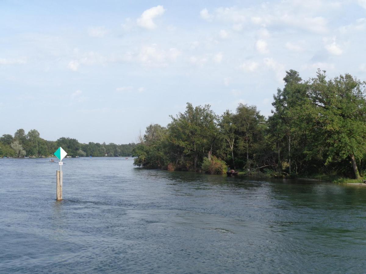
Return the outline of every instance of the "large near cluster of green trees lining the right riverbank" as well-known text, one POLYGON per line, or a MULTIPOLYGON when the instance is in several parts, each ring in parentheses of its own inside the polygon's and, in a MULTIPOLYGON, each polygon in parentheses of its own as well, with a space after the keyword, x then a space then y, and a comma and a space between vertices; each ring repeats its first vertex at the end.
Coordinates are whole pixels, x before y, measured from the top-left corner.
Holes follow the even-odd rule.
POLYGON ((290 70, 283 80, 268 118, 247 104, 217 115, 209 105, 187 103, 167 126, 149 125, 140 134, 134 164, 359 178, 366 165, 366 83, 349 74, 328 79, 320 70, 308 80, 290 70))

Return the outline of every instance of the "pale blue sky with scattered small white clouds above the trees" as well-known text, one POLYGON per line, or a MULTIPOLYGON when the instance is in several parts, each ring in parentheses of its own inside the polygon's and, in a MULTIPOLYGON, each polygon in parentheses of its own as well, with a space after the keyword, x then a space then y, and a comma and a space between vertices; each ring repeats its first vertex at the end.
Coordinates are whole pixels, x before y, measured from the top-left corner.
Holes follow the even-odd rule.
POLYGON ((267 116, 288 69, 366 80, 366 0, 3 0, 0 15, 0 135, 122 144, 186 102, 267 116))

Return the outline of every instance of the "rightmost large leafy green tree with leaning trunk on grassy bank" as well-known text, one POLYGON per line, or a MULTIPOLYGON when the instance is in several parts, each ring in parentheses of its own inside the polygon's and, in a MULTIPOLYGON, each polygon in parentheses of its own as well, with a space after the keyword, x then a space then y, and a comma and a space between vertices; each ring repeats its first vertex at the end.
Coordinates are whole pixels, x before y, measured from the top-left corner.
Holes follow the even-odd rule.
POLYGON ((357 161, 366 151, 365 84, 349 74, 326 81, 325 71, 318 71, 309 94, 318 111, 322 145, 329 148, 326 163, 350 159, 356 179, 357 161))

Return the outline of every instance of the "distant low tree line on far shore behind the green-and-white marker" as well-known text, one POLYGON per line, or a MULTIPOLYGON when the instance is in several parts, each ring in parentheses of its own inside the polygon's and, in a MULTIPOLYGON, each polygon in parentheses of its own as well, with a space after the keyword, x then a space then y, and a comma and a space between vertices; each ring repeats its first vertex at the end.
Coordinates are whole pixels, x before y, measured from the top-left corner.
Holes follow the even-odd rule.
POLYGON ((89 142, 88 144, 79 143, 74 138, 61 137, 57 141, 47 141, 40 137, 36 129, 30 130, 27 134, 24 129, 18 129, 14 136, 3 134, 0 137, 0 157, 49 157, 61 146, 68 156, 71 157, 117 157, 130 156, 136 146, 130 144, 103 144, 89 142))

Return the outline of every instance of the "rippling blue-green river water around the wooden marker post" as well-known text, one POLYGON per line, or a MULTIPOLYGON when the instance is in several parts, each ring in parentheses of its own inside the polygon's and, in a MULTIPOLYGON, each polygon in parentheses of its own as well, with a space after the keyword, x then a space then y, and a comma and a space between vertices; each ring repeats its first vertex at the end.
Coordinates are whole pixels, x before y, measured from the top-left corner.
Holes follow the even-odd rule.
POLYGON ((366 187, 0 159, 0 273, 365 273, 366 187))

